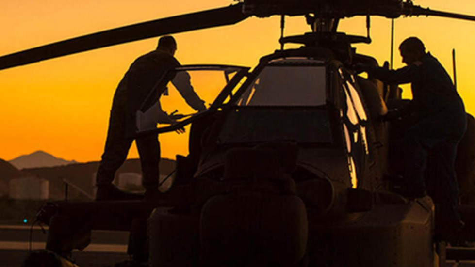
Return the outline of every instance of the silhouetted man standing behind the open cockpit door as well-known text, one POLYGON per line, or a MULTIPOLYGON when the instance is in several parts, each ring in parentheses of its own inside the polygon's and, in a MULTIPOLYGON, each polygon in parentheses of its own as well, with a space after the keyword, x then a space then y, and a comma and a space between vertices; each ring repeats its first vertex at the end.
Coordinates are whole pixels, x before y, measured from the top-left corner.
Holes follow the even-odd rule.
MULTIPOLYGON (((193 109, 206 110, 204 101, 190 84, 189 75, 185 72, 175 77, 175 72, 169 71, 180 66, 174 58, 176 50, 177 43, 172 36, 161 37, 157 49, 137 58, 117 86, 105 149, 96 176, 96 200, 137 200, 144 197, 122 191, 112 182, 116 170, 127 158, 136 127, 143 128, 144 121, 145 126, 154 128, 157 122, 175 123, 173 117, 162 110, 159 102, 169 81, 193 109), (136 121, 137 115, 142 115, 144 120, 136 121)), ((145 197, 153 198, 160 193, 160 144, 156 134, 137 137, 135 142, 142 167, 142 184, 146 189, 145 197)))

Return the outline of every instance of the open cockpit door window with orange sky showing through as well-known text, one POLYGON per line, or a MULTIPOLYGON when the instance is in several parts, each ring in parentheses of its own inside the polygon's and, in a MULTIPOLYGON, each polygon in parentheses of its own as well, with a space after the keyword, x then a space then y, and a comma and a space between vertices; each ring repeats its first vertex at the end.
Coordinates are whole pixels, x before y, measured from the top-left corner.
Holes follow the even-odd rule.
POLYGON ((157 83, 137 111, 138 132, 181 122, 209 109, 218 100, 229 101, 233 88, 228 85, 243 78, 242 70, 247 68, 193 65, 169 71, 164 76, 167 80, 157 83), (225 88, 229 92, 222 92, 225 88))

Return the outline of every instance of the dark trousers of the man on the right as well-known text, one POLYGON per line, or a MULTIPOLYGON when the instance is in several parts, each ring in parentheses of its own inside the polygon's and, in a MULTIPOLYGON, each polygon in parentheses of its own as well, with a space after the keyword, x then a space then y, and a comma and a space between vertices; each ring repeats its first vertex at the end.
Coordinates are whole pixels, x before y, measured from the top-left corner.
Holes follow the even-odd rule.
POLYGON ((444 216, 460 219, 459 186, 455 173, 457 146, 465 133, 467 119, 465 111, 447 108, 427 115, 404 133, 405 181, 409 186, 426 189, 427 155, 431 151, 434 170, 430 173, 431 184, 437 186, 431 195, 440 206, 444 216))

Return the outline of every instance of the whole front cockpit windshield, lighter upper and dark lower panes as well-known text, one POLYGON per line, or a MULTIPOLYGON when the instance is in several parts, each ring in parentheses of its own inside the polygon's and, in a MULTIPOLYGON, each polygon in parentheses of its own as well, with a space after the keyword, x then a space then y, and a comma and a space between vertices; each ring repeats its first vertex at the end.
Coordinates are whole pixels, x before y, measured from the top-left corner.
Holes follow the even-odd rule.
POLYGON ((221 143, 331 143, 326 68, 321 63, 267 65, 237 100, 221 143))

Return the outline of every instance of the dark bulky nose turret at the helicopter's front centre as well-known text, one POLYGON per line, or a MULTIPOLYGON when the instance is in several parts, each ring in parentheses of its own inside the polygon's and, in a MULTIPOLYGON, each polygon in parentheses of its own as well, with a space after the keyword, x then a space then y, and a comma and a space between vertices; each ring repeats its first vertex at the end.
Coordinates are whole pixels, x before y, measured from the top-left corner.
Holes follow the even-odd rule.
POLYGON ((208 199, 200 215, 201 248, 211 265, 295 266, 304 257, 307 211, 280 156, 269 148, 226 153, 221 184, 228 193, 208 199))

